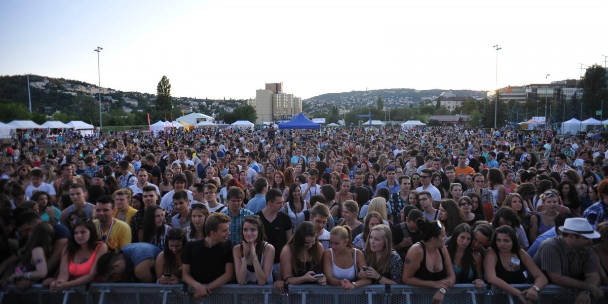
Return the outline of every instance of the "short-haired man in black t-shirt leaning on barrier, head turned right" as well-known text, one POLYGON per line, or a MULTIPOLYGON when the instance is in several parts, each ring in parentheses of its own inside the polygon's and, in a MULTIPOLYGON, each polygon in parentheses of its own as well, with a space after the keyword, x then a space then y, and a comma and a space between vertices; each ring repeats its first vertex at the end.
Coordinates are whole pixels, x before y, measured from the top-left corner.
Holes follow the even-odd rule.
POLYGON ((230 218, 223 213, 211 213, 205 221, 207 237, 188 242, 182 252, 184 283, 195 289, 195 298, 209 295, 213 289, 232 280, 234 261, 230 236, 230 218), (212 262, 212 263, 210 263, 212 262))

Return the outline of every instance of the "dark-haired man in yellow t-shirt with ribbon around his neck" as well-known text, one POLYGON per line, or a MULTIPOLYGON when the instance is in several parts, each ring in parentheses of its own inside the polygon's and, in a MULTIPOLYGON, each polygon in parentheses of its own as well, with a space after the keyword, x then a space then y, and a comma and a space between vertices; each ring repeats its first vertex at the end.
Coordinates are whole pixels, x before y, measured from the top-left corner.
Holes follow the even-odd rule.
POLYGON ((109 195, 100 196, 95 204, 95 216, 93 221, 97 229, 100 241, 108 245, 108 249, 118 252, 122 247, 131 243, 131 229, 125 222, 115 219, 114 201, 109 195))

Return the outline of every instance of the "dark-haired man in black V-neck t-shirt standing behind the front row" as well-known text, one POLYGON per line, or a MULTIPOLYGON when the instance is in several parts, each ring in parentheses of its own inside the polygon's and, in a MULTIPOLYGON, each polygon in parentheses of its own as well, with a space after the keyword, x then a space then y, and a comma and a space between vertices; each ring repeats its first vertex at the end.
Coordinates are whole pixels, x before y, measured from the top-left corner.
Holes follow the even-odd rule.
MULTIPOLYGON (((283 208, 283 193, 275 188, 266 192, 266 208, 255 213, 260 216, 266 232, 266 241, 275 248, 283 248, 291 238, 292 226, 289 215, 281 212, 283 208)), ((276 250, 274 254, 274 265, 272 266, 272 277, 278 277, 278 262, 281 250, 276 250)))

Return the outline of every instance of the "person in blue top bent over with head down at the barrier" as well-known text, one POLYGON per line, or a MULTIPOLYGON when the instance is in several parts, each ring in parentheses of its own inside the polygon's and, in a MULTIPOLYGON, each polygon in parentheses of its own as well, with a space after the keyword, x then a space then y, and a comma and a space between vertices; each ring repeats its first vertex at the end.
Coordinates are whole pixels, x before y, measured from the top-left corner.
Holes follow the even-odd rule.
POLYGON ((97 272, 100 277, 119 282, 153 283, 154 261, 160 253, 153 244, 128 244, 118 253, 102 255, 97 260, 97 272))

